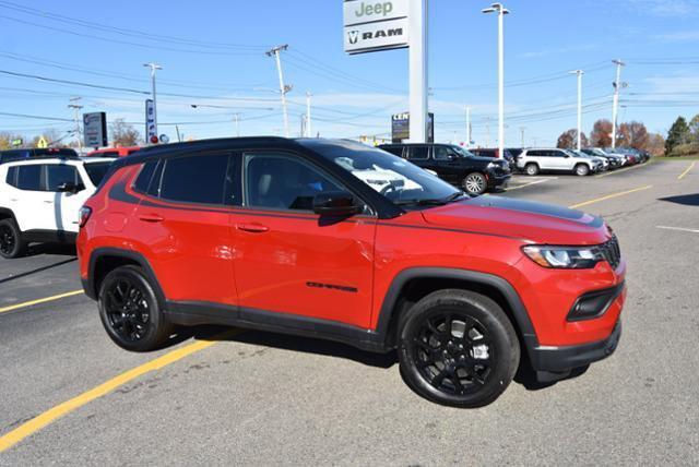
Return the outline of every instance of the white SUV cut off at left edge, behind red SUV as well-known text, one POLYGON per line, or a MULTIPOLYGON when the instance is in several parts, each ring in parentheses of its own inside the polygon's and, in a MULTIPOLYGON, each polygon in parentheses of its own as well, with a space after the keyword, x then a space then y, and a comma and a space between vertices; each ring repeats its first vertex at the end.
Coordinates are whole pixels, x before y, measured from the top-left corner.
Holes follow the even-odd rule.
POLYGON ((32 157, 0 164, 0 256, 31 242, 73 242, 79 213, 114 158, 32 157))

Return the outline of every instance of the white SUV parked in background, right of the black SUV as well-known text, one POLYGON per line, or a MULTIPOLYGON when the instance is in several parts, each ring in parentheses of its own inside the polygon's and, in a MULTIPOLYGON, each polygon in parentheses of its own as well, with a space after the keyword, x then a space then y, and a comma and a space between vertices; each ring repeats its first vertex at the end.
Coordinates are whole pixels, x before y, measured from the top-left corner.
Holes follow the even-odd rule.
POLYGON ((602 170, 603 164, 596 157, 581 157, 565 149, 533 148, 522 151, 517 167, 531 176, 543 171, 587 176, 602 170))

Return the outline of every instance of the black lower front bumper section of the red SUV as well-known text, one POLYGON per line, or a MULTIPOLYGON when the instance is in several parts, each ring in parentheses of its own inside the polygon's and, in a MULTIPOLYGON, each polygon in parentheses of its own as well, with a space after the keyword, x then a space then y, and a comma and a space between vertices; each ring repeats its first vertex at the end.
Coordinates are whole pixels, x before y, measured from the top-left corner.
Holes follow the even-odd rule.
POLYGON ((532 367, 536 371, 550 372, 565 372, 584 367, 614 354, 620 337, 621 322, 618 321, 606 339, 574 346, 538 346, 530 354, 532 367))

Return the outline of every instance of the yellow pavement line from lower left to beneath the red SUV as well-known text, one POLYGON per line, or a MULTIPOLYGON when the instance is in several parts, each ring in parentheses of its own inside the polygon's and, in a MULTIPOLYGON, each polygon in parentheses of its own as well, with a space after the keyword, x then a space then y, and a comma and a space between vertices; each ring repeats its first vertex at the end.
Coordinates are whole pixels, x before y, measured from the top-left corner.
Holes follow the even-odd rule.
POLYGON ((26 423, 23 423, 22 426, 15 428, 9 433, 0 436, 0 453, 14 446, 16 443, 24 440, 25 438, 36 433, 38 430, 50 424, 56 419, 63 417, 64 415, 68 415, 73 410, 79 409, 85 404, 91 403, 92 400, 95 400, 96 398, 99 398, 112 392, 117 387, 122 386, 129 383, 130 381, 133 381, 137 378, 142 376, 146 373, 161 370, 192 354, 204 350, 205 348, 209 348, 214 344, 216 344, 217 340, 232 337, 237 333, 240 333, 240 331, 232 330, 229 332, 215 336, 214 338, 212 338, 212 340, 199 340, 188 346, 178 348, 177 350, 173 350, 168 354, 165 354, 162 357, 158 357, 154 360, 151 360, 139 367, 135 367, 134 369, 131 369, 125 373, 121 373, 118 376, 107 381, 106 383, 103 383, 87 392, 82 393, 78 397, 73 397, 70 400, 67 400, 62 404, 57 405, 56 407, 45 411, 44 414, 37 417, 34 417, 32 420, 27 421, 26 423))

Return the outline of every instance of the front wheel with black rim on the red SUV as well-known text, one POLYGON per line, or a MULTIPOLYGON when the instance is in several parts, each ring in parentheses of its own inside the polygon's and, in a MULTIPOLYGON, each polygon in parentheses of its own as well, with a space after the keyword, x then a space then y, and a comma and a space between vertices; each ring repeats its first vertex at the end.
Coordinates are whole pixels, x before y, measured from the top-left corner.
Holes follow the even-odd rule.
POLYGON ((401 374, 415 393, 461 408, 497 399, 520 362, 519 340, 502 309, 459 289, 433 292, 402 316, 398 354, 401 374))

